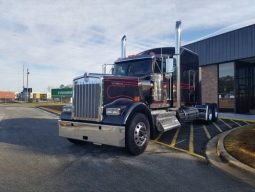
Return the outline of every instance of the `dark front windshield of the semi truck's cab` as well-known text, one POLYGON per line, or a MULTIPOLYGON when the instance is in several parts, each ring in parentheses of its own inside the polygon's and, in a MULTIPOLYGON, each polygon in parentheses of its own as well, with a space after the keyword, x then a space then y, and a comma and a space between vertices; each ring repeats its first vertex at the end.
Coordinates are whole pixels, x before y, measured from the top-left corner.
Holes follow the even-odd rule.
POLYGON ((152 72, 152 60, 130 60, 115 63, 114 74, 125 76, 145 76, 152 72))

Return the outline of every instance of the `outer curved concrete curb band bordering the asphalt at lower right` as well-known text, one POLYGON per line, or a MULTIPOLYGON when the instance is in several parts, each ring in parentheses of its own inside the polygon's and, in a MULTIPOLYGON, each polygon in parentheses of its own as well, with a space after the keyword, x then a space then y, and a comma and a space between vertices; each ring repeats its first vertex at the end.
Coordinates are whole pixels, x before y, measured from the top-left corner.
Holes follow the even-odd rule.
MULTIPOLYGON (((255 174, 253 172, 251 173, 250 171, 246 171, 246 169, 243 169, 242 167, 237 167, 232 165, 231 163, 234 161, 229 160, 228 158, 229 156, 224 156, 227 152, 222 153, 221 151, 222 147, 218 147, 219 141, 222 140, 222 144, 223 144, 224 137, 227 134, 229 134, 231 131, 232 130, 218 134, 215 137, 213 137, 211 140, 209 140, 209 142, 206 145, 206 151, 205 151, 206 159, 213 167, 221 169, 224 172, 228 173, 229 175, 232 175, 235 178, 238 178, 239 180, 242 180, 243 182, 246 182, 250 184, 251 186, 255 187, 255 182, 254 182, 255 174)), ((236 159, 235 161, 238 162, 238 160, 236 159)))

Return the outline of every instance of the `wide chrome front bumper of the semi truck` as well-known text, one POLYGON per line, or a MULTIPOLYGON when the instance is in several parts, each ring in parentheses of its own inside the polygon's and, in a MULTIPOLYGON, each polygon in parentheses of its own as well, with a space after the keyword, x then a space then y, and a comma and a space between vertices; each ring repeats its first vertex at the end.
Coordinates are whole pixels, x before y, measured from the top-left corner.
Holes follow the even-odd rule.
POLYGON ((125 147, 125 127, 58 120, 59 136, 125 147))

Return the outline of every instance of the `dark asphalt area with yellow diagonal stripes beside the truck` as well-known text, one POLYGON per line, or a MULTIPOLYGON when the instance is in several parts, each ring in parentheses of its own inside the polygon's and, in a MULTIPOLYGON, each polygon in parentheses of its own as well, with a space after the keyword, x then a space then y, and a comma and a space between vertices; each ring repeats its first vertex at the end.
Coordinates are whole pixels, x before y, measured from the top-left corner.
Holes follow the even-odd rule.
POLYGON ((205 147, 212 137, 247 124, 251 122, 231 119, 218 119, 208 125, 203 122, 186 123, 181 128, 159 135, 155 142, 205 159, 205 147))

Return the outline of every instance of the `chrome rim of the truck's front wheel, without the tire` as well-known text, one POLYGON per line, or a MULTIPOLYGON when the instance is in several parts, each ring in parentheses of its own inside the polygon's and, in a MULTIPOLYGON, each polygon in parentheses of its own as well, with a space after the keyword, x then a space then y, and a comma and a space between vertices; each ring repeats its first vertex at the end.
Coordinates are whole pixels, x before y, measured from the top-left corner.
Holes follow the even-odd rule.
POLYGON ((137 123, 134 131, 135 144, 142 147, 147 140, 147 129, 143 122, 137 123))

